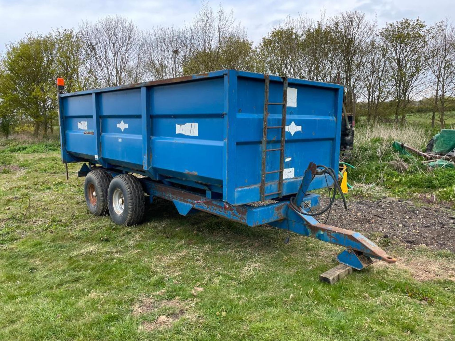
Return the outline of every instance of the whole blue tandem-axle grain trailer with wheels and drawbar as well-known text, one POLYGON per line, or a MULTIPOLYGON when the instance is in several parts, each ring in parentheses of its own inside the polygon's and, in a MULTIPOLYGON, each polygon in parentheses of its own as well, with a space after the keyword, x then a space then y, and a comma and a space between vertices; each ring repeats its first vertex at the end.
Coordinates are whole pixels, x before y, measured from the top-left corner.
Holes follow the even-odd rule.
POLYGON ((140 222, 146 198, 160 197, 184 216, 345 246, 338 260, 356 269, 393 263, 360 233, 315 219, 339 188, 342 100, 340 85, 238 70, 73 93, 60 83, 62 160, 83 163, 89 211, 118 224, 140 222), (319 209, 309 191, 328 186, 319 209))

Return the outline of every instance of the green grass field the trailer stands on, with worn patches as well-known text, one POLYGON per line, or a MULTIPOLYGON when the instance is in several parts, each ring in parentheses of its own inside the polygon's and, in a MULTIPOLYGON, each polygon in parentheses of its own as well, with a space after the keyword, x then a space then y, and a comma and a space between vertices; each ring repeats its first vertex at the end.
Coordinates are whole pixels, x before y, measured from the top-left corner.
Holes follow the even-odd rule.
POLYGON ((401 265, 329 286, 339 247, 165 201, 116 226, 87 213, 56 142, 2 143, 0 340, 455 339, 454 281, 403 266, 444 267, 449 251, 392 245, 401 265))

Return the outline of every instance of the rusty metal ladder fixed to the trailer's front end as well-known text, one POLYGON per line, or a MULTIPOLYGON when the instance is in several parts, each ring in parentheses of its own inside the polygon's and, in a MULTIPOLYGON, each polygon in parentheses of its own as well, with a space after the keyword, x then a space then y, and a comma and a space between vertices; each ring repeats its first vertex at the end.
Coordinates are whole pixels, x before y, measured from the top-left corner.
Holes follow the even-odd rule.
POLYGON ((265 79, 265 93, 264 93, 264 122, 263 122, 263 131, 262 131, 262 168, 261 168, 261 186, 260 186, 260 195, 261 201, 265 200, 266 196, 271 196, 273 194, 278 194, 281 198, 283 195, 283 172, 284 172, 284 138, 286 134, 286 101, 288 98, 288 78, 282 77, 283 79, 283 102, 273 103, 268 101, 268 92, 270 85, 270 75, 264 75, 265 79), (281 105, 283 110, 281 113, 281 125, 268 126, 268 106, 269 105, 281 105), (281 129, 281 143, 279 148, 267 149, 267 132, 269 129, 281 129), (267 171, 267 153, 271 151, 280 151, 280 166, 278 170, 267 171), (272 193, 265 193, 265 186, 271 182, 265 182, 265 177, 267 174, 279 173, 278 180, 278 191, 272 193))

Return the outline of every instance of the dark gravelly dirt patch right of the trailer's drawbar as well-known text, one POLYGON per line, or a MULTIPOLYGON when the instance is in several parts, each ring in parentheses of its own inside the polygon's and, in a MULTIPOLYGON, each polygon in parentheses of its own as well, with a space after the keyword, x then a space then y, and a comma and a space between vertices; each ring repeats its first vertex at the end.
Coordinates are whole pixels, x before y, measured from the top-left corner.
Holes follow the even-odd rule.
MULTIPOLYGON (((324 222, 325 217, 322 215, 318 219, 324 222)), ((394 198, 350 199, 348 211, 342 203, 334 203, 327 224, 367 236, 379 233, 383 238, 379 241, 381 246, 399 242, 407 248, 426 245, 435 250, 455 252, 455 211, 441 206, 417 205, 394 198)))

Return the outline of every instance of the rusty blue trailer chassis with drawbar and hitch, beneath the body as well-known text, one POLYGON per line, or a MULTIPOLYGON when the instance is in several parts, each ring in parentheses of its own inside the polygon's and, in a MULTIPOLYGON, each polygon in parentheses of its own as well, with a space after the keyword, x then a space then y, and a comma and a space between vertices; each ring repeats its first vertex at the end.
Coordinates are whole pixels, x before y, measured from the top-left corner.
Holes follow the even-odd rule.
MULTIPOLYGON (((86 176, 91 170, 84 164, 79 171, 79 176, 86 176)), ((126 171, 106 169, 112 176, 126 171)), ((182 216, 187 216, 197 211, 207 212, 221 216, 247 226, 260 226, 268 224, 279 229, 288 230, 303 236, 312 237, 331 244, 344 246, 346 249, 337 256, 337 260, 354 269, 362 270, 369 266, 373 259, 396 262, 394 257, 386 254, 379 246, 369 241, 359 232, 321 224, 313 216, 305 213, 311 211, 319 204, 319 195, 307 193, 311 180, 315 176, 316 165, 310 163, 302 179, 298 194, 295 198, 282 198, 262 206, 241 205, 233 206, 220 199, 212 199, 195 191, 178 188, 172 182, 162 180, 153 181, 148 177, 138 178, 144 191, 150 196, 172 201, 177 211, 182 216), (292 202, 291 202, 292 201, 292 202), (300 210, 295 210, 295 207, 300 210)))

